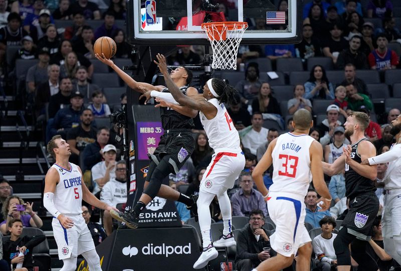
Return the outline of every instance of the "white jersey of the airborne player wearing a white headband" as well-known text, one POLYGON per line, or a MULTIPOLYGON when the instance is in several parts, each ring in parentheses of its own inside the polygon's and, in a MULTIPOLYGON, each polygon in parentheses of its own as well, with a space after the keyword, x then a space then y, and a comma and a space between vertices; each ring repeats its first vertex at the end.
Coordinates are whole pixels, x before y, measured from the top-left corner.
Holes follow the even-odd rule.
POLYGON ((226 106, 216 98, 210 99, 208 102, 216 106, 216 116, 208 119, 204 113, 199 112, 199 117, 208 135, 210 147, 215 150, 215 153, 242 152, 240 148, 240 135, 227 112, 226 106))

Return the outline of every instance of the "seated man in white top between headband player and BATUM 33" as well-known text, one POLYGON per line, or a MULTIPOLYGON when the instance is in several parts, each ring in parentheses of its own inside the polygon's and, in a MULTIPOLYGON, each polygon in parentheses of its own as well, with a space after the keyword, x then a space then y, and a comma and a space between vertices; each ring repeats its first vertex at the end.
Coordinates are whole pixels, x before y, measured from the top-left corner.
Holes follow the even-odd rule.
POLYGON ((263 116, 261 112, 252 114, 251 126, 248 126, 240 131, 242 144, 249 149, 253 155, 256 155, 261 142, 265 141, 269 129, 262 127, 263 116))

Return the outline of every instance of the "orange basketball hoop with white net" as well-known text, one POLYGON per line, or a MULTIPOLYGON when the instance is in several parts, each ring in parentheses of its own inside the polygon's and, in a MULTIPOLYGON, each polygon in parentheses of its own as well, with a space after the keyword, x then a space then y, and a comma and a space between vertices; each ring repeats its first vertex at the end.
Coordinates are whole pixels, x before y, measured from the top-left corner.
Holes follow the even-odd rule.
POLYGON ((213 50, 213 69, 237 69, 237 54, 246 22, 213 22, 201 25, 213 50))

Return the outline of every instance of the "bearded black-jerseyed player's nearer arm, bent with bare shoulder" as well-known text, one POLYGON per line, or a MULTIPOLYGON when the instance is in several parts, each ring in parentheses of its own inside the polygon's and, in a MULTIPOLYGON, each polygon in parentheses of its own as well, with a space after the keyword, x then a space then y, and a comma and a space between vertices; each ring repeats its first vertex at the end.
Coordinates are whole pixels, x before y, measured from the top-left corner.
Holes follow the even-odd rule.
MULTIPOLYGON (((361 141, 358 145, 358 153, 360 159, 362 161, 368 159, 369 157, 373 157, 376 155, 376 148, 374 145, 367 140, 361 141), (359 148, 360 147, 360 148, 359 148)), ((356 162, 351 158, 351 146, 347 146, 347 148, 343 147, 344 155, 345 155, 345 163, 347 163, 357 174, 368 178, 370 180, 375 180, 377 177, 377 166, 373 165, 362 165, 356 162)), ((337 159, 338 160, 338 159, 337 159)))

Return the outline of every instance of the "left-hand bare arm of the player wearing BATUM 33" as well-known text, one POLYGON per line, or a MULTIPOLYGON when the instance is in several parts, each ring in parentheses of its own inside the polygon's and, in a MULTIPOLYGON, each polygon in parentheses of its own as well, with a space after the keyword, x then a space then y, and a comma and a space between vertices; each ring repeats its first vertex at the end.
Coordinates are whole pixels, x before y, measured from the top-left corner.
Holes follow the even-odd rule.
POLYGON ((259 163, 256 165, 252 172, 252 178, 258 187, 258 191, 262 193, 265 200, 267 200, 267 195, 269 194, 269 190, 267 190, 265 183, 263 182, 263 174, 267 171, 267 169, 272 165, 272 152, 274 147, 276 146, 277 139, 274 139, 269 146, 265 154, 262 156, 259 163))

